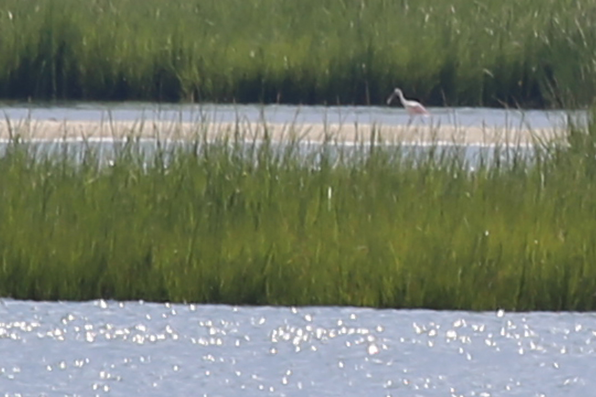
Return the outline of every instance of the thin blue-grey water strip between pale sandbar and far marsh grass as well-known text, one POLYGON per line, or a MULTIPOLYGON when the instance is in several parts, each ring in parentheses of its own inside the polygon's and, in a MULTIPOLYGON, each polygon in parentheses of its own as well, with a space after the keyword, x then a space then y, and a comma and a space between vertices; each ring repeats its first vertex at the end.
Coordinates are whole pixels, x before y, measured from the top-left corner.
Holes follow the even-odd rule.
MULTIPOLYGON (((429 108, 432 117, 415 123, 542 129, 561 126, 567 115, 585 117, 582 111, 505 110, 493 108, 429 108)), ((333 123, 403 125, 410 120, 401 107, 154 104, 148 102, 66 102, 58 104, 0 104, 0 112, 11 120, 98 121, 180 120, 260 121, 270 123, 333 123)))

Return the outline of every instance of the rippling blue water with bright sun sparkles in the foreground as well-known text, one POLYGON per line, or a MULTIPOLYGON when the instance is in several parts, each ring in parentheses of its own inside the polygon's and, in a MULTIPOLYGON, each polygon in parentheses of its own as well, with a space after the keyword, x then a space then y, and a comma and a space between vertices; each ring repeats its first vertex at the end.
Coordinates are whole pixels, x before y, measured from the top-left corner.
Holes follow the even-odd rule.
POLYGON ((596 316, 0 301, 2 396, 588 396, 596 316))

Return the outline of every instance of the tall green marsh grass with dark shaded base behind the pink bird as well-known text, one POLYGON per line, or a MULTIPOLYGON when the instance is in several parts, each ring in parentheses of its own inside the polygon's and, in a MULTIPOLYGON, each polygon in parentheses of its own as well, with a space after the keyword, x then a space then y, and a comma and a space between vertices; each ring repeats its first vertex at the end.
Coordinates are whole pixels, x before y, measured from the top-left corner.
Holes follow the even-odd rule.
POLYGON ((591 0, 3 0, 0 98, 579 107, 591 0))

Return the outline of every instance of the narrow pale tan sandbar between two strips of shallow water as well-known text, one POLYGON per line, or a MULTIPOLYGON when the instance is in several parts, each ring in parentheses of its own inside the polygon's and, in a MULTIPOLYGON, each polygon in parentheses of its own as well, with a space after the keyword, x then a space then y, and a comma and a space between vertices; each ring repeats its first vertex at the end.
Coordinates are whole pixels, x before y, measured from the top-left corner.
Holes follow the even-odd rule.
POLYGON ((382 126, 372 124, 182 123, 173 121, 56 121, 21 120, 0 123, 0 139, 300 139, 310 142, 441 143, 474 145, 531 145, 557 139, 561 130, 502 129, 495 127, 382 126))

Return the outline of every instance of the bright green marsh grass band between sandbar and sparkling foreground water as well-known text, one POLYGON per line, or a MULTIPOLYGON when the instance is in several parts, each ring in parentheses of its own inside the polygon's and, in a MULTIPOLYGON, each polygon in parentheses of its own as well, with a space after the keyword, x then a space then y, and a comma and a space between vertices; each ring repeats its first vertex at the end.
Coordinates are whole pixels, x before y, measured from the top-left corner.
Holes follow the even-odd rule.
POLYGON ((473 169, 457 149, 305 154, 243 133, 160 144, 151 161, 131 139, 110 164, 13 139, 0 296, 596 309, 596 120, 473 169))

